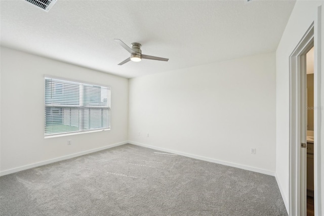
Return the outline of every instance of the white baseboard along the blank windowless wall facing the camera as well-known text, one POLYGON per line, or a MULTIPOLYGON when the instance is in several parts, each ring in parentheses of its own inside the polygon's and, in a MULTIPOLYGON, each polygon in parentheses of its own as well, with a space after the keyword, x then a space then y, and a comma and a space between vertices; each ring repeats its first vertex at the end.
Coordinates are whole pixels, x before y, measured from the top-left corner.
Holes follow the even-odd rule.
POLYGON ((189 158, 194 158, 194 159, 198 159, 198 160, 218 163, 218 164, 222 164, 222 165, 226 165, 226 166, 232 166, 232 167, 236 167, 236 168, 240 168, 240 169, 245 169, 245 170, 249 170, 249 171, 253 171, 253 172, 259 172, 259 173, 262 173, 262 174, 267 174, 267 175, 274 176, 273 171, 266 170, 266 169, 260 169, 260 168, 257 168, 257 167, 246 166, 246 165, 241 165, 241 164, 237 164, 237 163, 231 163, 231 162, 222 161, 222 160, 216 160, 216 159, 213 159, 213 158, 207 158, 207 157, 198 156, 198 155, 192 155, 192 154, 188 154, 188 153, 184 153, 184 152, 178 152, 178 151, 174 151, 174 150, 170 150, 170 149, 150 146, 150 145, 146 145, 146 144, 139 143, 139 142, 134 142, 134 141, 128 141, 128 143, 136 145, 136 146, 146 147, 146 148, 149 148, 149 149, 155 149, 155 150, 159 150, 159 151, 170 152, 170 153, 173 153, 173 154, 182 155, 182 156, 186 156, 186 157, 189 157, 189 158))

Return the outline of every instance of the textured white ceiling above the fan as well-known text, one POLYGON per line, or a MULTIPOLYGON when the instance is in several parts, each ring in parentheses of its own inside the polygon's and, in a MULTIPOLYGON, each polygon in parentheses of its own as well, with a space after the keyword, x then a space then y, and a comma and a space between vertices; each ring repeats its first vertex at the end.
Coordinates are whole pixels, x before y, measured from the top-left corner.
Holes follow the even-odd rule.
POLYGON ((2 46, 127 78, 273 52, 295 1, 1 1, 2 46), (113 39, 169 62, 119 62, 113 39))

